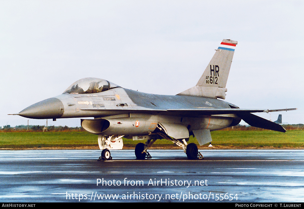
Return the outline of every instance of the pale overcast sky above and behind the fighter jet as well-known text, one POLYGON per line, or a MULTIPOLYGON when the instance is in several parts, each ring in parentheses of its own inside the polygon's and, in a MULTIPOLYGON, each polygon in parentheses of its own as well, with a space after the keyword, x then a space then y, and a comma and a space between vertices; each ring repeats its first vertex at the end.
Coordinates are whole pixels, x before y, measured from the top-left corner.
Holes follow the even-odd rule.
MULTIPOLYGON (((238 41, 225 101, 304 123, 303 1, 0 1, 0 126, 84 77, 152 94, 195 86, 223 39, 238 41)), ((46 120, 29 119, 30 125, 46 120)), ((80 119, 48 120, 80 126, 80 119)))

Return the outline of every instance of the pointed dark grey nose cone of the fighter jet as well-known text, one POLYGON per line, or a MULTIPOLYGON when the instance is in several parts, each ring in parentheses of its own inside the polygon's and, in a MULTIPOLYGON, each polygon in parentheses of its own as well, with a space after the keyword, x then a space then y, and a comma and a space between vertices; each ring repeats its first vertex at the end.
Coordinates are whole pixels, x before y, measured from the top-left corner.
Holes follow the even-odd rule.
POLYGON ((63 112, 62 102, 57 98, 49 98, 25 108, 18 115, 25 118, 48 119, 59 118, 63 115, 63 112))

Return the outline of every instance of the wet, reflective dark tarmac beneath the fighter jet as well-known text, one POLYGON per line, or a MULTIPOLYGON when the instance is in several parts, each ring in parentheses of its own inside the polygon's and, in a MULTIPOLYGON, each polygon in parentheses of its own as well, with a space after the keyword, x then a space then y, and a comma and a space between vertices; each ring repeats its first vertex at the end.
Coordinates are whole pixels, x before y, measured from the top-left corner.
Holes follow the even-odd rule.
POLYGON ((0 202, 304 202, 304 150, 1 150, 0 202))

